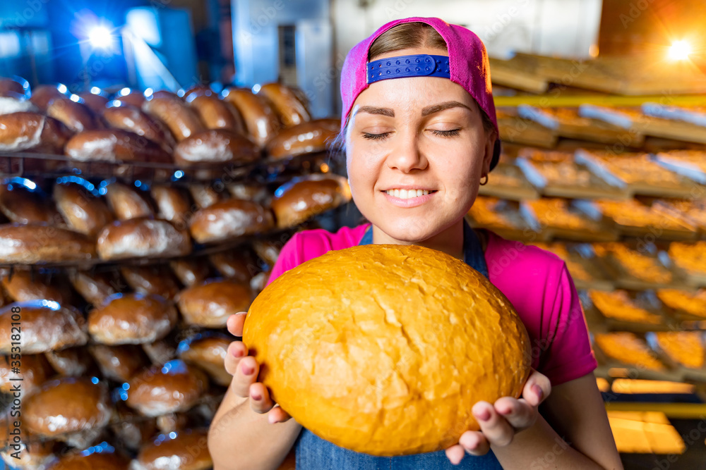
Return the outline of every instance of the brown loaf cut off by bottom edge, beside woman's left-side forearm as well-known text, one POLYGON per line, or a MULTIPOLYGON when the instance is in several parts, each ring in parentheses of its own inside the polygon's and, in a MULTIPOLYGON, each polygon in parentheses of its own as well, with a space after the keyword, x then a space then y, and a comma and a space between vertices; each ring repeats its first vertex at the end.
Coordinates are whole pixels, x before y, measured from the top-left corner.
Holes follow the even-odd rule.
POLYGON ((142 447, 137 459, 133 460, 133 470, 166 470, 162 462, 169 462, 169 469, 179 470, 213 467, 208 453, 208 431, 179 431, 174 438, 163 437, 142 447))

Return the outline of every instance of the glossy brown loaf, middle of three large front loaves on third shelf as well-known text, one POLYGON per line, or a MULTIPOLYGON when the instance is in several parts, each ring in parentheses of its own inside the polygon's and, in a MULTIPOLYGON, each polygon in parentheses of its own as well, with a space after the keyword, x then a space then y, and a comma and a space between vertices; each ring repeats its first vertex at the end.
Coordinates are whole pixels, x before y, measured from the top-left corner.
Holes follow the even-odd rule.
POLYGON ((160 340, 176 323, 177 311, 155 295, 116 294, 88 314, 90 335, 104 345, 160 340))

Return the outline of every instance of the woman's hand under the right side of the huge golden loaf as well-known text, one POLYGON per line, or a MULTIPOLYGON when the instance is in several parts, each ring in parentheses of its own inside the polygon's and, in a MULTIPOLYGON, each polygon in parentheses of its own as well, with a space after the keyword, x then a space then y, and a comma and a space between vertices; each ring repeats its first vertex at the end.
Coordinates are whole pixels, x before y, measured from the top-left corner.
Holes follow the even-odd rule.
POLYGON ((522 397, 502 397, 495 404, 477 402, 473 405, 473 416, 481 426, 480 431, 466 431, 457 445, 446 449, 446 457, 454 465, 468 452, 483 455, 490 446, 503 447, 513 442, 516 433, 532 427, 537 421, 537 407, 551 392, 549 378, 532 369, 530 378, 522 389, 522 397))

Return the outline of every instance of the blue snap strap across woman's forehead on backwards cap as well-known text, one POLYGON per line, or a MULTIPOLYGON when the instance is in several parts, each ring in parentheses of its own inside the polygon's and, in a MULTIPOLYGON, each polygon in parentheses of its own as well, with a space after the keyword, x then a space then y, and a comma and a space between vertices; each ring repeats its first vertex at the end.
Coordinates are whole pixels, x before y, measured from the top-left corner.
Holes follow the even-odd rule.
POLYGON ((403 77, 451 78, 448 56, 431 56, 429 54, 381 58, 369 62, 366 70, 368 83, 403 77))

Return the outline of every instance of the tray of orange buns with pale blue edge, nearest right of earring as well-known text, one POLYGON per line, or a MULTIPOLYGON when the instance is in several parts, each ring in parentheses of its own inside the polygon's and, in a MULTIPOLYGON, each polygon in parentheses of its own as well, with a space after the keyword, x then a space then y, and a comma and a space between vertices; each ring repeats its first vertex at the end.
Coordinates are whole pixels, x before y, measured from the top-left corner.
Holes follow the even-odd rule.
POLYGON ((525 147, 517 166, 544 196, 575 199, 627 199, 626 185, 611 175, 599 175, 574 160, 573 152, 525 147))

